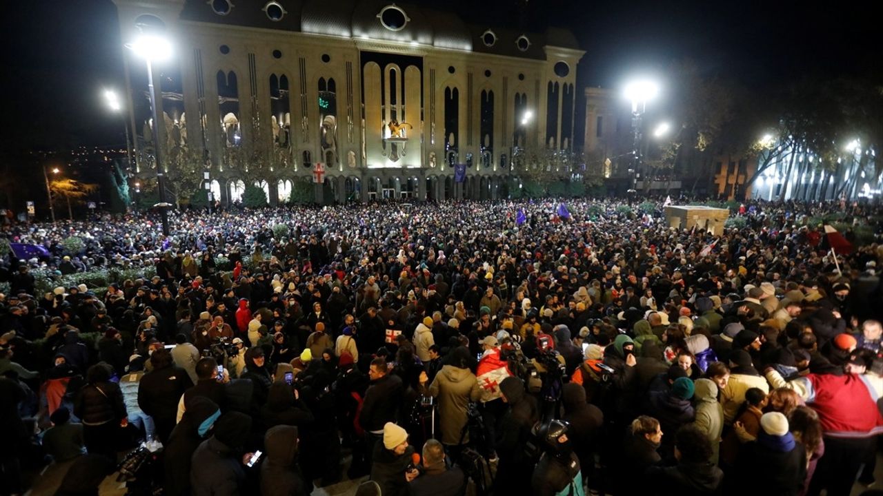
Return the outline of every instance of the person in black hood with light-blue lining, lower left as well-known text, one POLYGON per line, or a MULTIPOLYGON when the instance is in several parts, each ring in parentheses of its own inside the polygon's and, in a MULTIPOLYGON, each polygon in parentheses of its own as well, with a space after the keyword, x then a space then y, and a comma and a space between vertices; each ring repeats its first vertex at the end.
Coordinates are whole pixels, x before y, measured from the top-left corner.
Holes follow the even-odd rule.
POLYGON ((221 410, 215 402, 203 396, 194 396, 186 402, 187 410, 181 421, 172 429, 169 441, 162 449, 165 494, 186 496, 190 494, 191 458, 200 443, 211 435, 221 410))

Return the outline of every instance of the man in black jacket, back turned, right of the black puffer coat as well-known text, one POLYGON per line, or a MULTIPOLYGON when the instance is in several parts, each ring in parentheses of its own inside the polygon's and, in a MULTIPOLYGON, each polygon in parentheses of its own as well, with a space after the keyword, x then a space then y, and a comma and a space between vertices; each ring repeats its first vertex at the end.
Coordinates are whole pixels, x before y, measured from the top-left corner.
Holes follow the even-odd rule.
POLYGON ((168 349, 155 350, 150 355, 150 364, 154 369, 141 378, 138 406, 154 418, 156 434, 165 443, 175 427, 177 403, 193 383, 184 369, 175 366, 168 349))

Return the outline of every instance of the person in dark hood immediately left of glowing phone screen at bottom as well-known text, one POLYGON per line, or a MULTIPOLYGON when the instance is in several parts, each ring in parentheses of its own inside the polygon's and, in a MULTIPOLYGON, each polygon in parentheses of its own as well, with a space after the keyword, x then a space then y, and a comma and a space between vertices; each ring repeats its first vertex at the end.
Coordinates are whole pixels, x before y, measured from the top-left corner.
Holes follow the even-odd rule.
POLYGON ((253 453, 245 453, 252 418, 238 411, 215 421, 214 433, 202 441, 192 456, 192 496, 234 496, 245 488, 243 466, 253 453))

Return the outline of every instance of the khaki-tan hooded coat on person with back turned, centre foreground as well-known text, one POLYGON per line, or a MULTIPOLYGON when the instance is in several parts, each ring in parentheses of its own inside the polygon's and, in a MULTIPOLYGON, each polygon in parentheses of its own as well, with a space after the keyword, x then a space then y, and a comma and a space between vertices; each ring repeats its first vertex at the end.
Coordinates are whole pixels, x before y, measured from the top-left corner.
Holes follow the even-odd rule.
MULTIPOLYGON (((426 331, 430 337, 432 333, 426 331)), ((445 365, 435 375, 429 386, 429 395, 439 399, 439 419, 442 429, 442 443, 458 445, 469 440, 469 436, 461 437, 466 425, 466 410, 469 402, 479 401, 481 388, 469 369, 461 369, 454 365, 445 365)))

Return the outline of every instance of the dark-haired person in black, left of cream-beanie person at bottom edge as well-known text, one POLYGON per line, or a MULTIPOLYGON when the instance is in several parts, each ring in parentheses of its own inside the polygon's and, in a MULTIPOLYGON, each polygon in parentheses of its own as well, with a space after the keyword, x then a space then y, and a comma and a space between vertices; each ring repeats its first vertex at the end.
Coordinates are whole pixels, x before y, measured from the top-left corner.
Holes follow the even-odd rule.
POLYGON ((710 460, 712 447, 705 432, 695 425, 684 425, 675 434, 675 460, 672 467, 650 467, 646 478, 652 494, 660 496, 712 495, 720 493, 723 472, 710 460))

